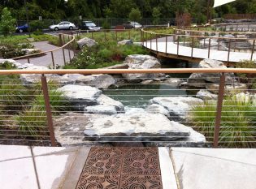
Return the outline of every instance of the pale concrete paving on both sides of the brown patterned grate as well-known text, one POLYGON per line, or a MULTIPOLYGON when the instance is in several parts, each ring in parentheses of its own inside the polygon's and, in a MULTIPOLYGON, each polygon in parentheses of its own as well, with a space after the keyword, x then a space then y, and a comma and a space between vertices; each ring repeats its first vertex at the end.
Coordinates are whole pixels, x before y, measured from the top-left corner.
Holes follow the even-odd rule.
MULTIPOLYGON (((1 189, 75 189, 90 150, 1 145, 1 189)), ((158 148, 158 157, 163 187, 153 189, 256 188, 256 149, 158 148)))

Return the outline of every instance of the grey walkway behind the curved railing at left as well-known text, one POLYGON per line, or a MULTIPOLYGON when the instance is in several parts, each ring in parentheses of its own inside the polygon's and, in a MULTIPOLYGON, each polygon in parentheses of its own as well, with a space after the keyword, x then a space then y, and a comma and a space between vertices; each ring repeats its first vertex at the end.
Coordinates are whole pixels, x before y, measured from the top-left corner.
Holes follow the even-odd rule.
MULTIPOLYGON (((42 52, 56 49, 58 46, 50 45, 48 41, 40 41, 40 42, 33 42, 33 45, 36 49, 41 49, 42 52)), ((69 52, 68 49, 64 49, 64 54, 66 58, 66 62, 69 62, 69 52)), ((71 58, 74 57, 74 52, 70 50, 71 58)), ((17 62, 20 62, 21 64, 28 63, 28 59, 20 59, 17 60, 17 62)), ((47 53, 44 56, 37 57, 37 58, 30 58, 30 63, 36 65, 36 66, 43 66, 43 67, 52 67, 52 57, 51 53, 47 53)), ((54 63, 55 66, 63 66, 64 65, 64 58, 63 58, 63 49, 58 49, 54 51, 54 63)))

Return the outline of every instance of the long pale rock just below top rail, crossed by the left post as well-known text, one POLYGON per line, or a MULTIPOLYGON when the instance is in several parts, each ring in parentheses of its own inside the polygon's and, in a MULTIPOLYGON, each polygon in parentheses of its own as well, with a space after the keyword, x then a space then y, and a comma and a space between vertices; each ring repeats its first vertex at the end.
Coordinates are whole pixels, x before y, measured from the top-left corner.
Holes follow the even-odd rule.
MULTIPOLYGON (((30 68, 31 67, 28 67, 28 69, 30 68)), ((41 75, 39 74, 21 74, 20 79, 22 81, 22 84, 27 87, 33 87, 34 84, 41 83, 41 75)), ((60 86, 63 86, 66 84, 75 84, 75 81, 73 81, 72 79, 66 79, 56 74, 46 75, 46 80, 47 82, 52 81, 53 83, 59 84, 60 86)))

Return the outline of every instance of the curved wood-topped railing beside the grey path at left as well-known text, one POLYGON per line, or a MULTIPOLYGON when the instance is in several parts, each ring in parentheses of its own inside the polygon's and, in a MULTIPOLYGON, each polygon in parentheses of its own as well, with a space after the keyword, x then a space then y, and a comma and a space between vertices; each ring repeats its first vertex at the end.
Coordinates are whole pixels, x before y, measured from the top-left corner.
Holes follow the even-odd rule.
POLYGON ((73 51, 73 56, 75 56, 75 53, 76 53, 76 41, 75 40, 76 40, 76 37, 73 34, 59 33, 59 42, 62 46, 60 46, 58 48, 55 48, 55 49, 43 51, 43 52, 40 52, 40 53, 28 54, 28 55, 15 57, 15 58, 11 58, 11 59, 14 59, 14 60, 27 59, 28 63, 30 63, 31 58, 35 58, 35 57, 38 57, 38 56, 43 56, 45 54, 50 53, 51 60, 52 60, 52 67, 56 68, 57 65, 55 65, 55 61, 54 61, 54 52, 56 52, 58 50, 62 50, 62 52, 63 52, 63 62, 66 65, 66 62, 67 62, 66 54, 68 54, 69 61, 72 60, 71 51, 73 51), (65 54, 65 49, 67 49, 66 54, 65 54))

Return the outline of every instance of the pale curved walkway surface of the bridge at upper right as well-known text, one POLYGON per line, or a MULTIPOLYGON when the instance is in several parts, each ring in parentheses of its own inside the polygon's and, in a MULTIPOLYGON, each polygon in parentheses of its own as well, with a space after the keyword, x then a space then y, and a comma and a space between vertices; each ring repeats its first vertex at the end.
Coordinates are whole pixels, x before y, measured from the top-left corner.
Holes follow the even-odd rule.
MULTIPOLYGON (((167 54, 177 55, 177 44, 172 41, 173 37, 168 37, 167 39, 167 54)), ((166 38, 158 38, 158 45, 156 40, 145 41, 143 46, 148 49, 152 49, 154 51, 158 51, 160 53, 166 53, 166 38)), ((182 44, 179 45, 179 54, 180 56, 191 58, 192 48, 188 46, 184 46, 182 44)), ((208 58, 208 49, 198 49, 193 48, 193 58, 208 58)), ((221 51, 210 49, 210 58, 228 62, 228 51, 221 51)), ((250 59, 250 53, 239 53, 239 52, 230 52, 229 62, 240 62, 241 60, 250 59)), ((254 54, 253 59, 256 60, 256 54, 254 54)))

